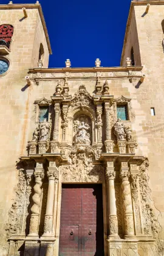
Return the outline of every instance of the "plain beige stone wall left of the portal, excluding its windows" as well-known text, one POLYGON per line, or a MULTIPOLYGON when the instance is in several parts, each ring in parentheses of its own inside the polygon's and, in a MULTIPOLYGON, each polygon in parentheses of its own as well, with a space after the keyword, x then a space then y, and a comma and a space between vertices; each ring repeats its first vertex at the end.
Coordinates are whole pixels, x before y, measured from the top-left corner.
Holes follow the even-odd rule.
MULTIPOLYGON (((3 5, 4 6, 4 5, 3 5)), ((32 88, 27 86, 25 76, 29 68, 37 67, 39 45, 42 42, 45 52, 44 66, 47 67, 49 51, 37 8, 27 9, 24 18, 22 7, 4 9, 0 7, 0 24, 12 24, 14 28, 11 52, 4 55, 9 59, 9 71, 0 76, 0 116, 1 116, 1 234, 12 201, 15 199, 14 187, 18 182, 16 161, 26 152, 27 129, 29 127, 29 99, 32 88), (36 33, 36 26, 40 34, 36 33), (35 49, 35 52, 33 52, 35 49)), ((9 7, 9 5, 7 6, 9 7)), ((2 243, 4 241, 1 239, 2 243)), ((2 253, 1 253, 2 255, 2 253)))

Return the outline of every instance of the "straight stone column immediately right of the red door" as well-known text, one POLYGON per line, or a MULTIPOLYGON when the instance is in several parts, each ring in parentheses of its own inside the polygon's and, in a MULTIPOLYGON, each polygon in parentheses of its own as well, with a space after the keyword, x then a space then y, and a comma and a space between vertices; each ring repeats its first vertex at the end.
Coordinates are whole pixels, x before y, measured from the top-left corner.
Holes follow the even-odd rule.
POLYGON ((114 162, 107 162, 106 168, 106 180, 108 187, 108 213, 109 213, 109 238, 112 236, 118 236, 118 220, 117 220, 117 208, 115 204, 115 188, 114 188, 114 162))

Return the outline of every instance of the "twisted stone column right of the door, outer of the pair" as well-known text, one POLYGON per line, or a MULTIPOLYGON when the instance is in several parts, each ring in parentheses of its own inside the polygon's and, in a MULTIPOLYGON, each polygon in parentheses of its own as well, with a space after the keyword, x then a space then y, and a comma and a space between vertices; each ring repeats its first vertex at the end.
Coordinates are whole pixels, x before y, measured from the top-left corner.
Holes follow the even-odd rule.
POLYGON ((121 188, 123 191, 122 197, 125 217, 125 236, 134 236, 134 219, 129 175, 128 162, 121 161, 120 177, 122 180, 121 188))

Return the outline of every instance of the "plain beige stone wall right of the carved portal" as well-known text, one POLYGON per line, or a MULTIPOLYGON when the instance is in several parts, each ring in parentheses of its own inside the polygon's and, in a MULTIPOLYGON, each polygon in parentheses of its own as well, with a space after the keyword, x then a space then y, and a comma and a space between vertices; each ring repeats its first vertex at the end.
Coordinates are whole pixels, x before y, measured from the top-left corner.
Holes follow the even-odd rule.
MULTIPOLYGON (((130 57, 130 49, 134 47, 134 57, 140 55, 145 81, 141 85, 134 84, 131 93, 135 95, 137 101, 135 110, 140 119, 140 124, 135 124, 137 137, 142 152, 149 158, 150 185, 152 198, 155 207, 160 211, 160 224, 164 227, 163 216, 163 152, 164 152, 164 126, 163 126, 163 1, 161 4, 146 2, 142 5, 131 7, 132 18, 130 21, 129 32, 127 29, 127 43, 125 44, 125 55, 130 57), (145 13, 146 5, 150 4, 148 13, 145 13), (132 29, 137 27, 137 30, 132 29), (133 41, 132 38, 135 38, 133 41), (139 49, 135 48, 138 41, 139 49), (150 108, 155 108, 155 116, 151 116, 150 108), (139 109, 140 108, 140 109, 139 109), (140 115, 139 115, 140 113, 140 115)), ((131 15, 129 15, 130 17, 131 15)), ((137 63, 138 61, 136 61, 137 63)), ((162 229, 164 230, 164 229, 162 229)), ((164 231, 161 237, 164 238, 164 231)))

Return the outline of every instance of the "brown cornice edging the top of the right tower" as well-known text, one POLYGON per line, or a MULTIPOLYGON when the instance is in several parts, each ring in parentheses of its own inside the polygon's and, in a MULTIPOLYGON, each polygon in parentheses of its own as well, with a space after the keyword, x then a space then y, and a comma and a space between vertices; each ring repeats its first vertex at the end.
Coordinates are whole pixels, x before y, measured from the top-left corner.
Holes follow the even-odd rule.
POLYGON ((129 34, 129 27, 131 24, 131 18, 132 18, 132 11, 134 9, 135 5, 147 5, 147 4, 151 4, 151 5, 162 5, 164 4, 164 0, 157 0, 157 1, 132 1, 131 2, 131 6, 130 6, 130 10, 129 10, 129 16, 128 16, 128 21, 126 23, 126 31, 125 31, 125 37, 124 37, 124 41, 123 41, 123 50, 122 50, 122 54, 121 54, 121 62, 120 62, 120 66, 123 65, 123 58, 125 55, 125 48, 126 48, 126 42, 128 40, 128 34, 129 34))

